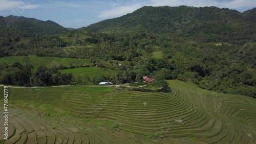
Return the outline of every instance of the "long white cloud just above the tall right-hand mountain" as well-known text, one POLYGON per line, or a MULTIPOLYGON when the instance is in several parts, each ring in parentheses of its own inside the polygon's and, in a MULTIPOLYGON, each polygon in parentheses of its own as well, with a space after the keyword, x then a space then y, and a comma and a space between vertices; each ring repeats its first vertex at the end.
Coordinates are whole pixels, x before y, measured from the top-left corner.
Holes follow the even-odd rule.
MULTIPOLYGON (((209 7, 216 6, 219 8, 229 8, 229 9, 240 9, 240 8, 252 8, 256 6, 255 0, 232 0, 232 1, 223 1, 219 2, 217 0, 150 0, 146 3, 141 1, 132 1, 130 5, 124 3, 124 0, 112 0, 113 3, 110 3, 111 9, 101 11, 98 15, 100 18, 114 18, 125 15, 127 13, 132 13, 133 11, 143 7, 143 6, 193 6, 193 7, 209 7), (117 3, 121 1, 122 3, 117 3)), ((111 1, 111 2, 112 2, 111 1)))

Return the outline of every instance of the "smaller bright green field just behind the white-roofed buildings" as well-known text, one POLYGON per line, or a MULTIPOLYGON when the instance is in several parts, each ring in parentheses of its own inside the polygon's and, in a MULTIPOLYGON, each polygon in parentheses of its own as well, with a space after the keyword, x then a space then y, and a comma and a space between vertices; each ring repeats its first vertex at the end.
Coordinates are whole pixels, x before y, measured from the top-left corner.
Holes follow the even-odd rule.
POLYGON ((73 73, 75 77, 84 76, 84 77, 89 77, 89 78, 97 77, 100 75, 108 75, 108 74, 117 73, 116 70, 104 69, 104 68, 99 68, 96 66, 62 69, 60 71, 61 71, 61 73, 73 73))

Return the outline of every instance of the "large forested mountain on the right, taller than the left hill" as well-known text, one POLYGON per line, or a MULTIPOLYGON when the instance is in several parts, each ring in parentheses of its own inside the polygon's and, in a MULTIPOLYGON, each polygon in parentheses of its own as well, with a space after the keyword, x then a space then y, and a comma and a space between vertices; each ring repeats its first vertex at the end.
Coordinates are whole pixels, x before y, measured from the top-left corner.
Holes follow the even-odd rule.
POLYGON ((255 8, 244 13, 217 7, 143 7, 133 13, 82 28, 90 32, 150 32, 200 42, 243 44, 256 39, 255 8))

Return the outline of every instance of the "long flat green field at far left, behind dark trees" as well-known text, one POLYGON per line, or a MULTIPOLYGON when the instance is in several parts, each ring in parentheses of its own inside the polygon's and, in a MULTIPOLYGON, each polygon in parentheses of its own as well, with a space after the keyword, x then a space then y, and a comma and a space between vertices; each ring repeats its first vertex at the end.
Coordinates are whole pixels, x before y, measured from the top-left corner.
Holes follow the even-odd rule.
MULTIPOLYGON (((3 57, 0 58, 0 64, 8 63, 12 64, 13 62, 19 61, 20 63, 23 62, 23 58, 25 56, 12 56, 12 57, 3 57)), ((75 58, 58 58, 58 57, 36 57, 36 56, 28 56, 29 61, 34 68, 39 66, 52 66, 52 65, 65 65, 70 66, 81 66, 81 64, 90 63, 90 59, 75 59, 75 58)))

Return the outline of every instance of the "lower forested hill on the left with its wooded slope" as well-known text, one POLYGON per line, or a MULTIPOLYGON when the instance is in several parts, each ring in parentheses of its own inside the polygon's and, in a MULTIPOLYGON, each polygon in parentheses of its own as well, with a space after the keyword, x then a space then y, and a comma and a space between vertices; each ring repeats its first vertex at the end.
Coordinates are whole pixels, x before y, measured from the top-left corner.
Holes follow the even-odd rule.
POLYGON ((68 32, 66 28, 50 20, 0 16, 0 56, 8 55, 8 51, 13 49, 66 46, 56 36, 65 32, 68 32))

